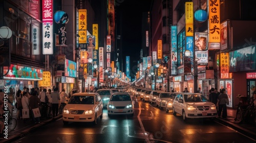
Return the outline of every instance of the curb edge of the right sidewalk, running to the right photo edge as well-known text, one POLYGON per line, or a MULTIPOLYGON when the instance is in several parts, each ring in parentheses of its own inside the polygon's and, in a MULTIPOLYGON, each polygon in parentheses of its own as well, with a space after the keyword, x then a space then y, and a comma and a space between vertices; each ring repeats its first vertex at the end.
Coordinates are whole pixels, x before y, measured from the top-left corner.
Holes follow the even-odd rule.
POLYGON ((251 138, 256 138, 256 133, 250 131, 250 130, 247 130, 237 124, 234 124, 232 122, 229 122, 229 121, 226 121, 222 118, 216 118, 217 122, 221 123, 221 124, 224 124, 226 126, 229 126, 231 127, 232 129, 234 130, 237 130, 238 132, 240 133, 243 133, 244 135, 247 135, 248 137, 251 137, 251 138))

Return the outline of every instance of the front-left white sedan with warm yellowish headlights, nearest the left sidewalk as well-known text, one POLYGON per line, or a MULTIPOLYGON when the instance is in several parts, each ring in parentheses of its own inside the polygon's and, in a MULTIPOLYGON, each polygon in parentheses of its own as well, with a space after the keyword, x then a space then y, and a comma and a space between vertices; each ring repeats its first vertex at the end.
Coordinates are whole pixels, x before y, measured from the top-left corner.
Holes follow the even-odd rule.
POLYGON ((102 118, 103 105, 98 93, 74 93, 68 104, 63 108, 62 120, 64 125, 69 122, 93 122, 102 118))

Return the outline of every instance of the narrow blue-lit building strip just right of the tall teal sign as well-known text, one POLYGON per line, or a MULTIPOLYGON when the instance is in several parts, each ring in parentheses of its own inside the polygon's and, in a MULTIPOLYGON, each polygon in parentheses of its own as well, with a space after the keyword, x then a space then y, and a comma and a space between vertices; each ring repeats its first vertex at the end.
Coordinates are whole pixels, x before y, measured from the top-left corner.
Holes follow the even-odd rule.
POLYGON ((177 36, 178 39, 178 66, 183 65, 183 53, 185 51, 185 29, 177 36))

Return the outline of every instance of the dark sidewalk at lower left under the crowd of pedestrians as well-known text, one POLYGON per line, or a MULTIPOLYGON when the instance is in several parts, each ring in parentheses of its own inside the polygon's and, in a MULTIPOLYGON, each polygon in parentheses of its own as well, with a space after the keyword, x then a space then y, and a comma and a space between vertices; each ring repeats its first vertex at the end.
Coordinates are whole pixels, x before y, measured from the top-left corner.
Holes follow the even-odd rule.
MULTIPOLYGON (((13 117, 17 118, 17 111, 16 109, 14 109, 13 111, 13 117)), ((55 120, 57 120, 58 118, 61 118, 62 114, 58 114, 57 116, 55 116, 54 118, 40 118, 40 123, 39 124, 34 124, 33 121, 30 121, 29 119, 24 120, 23 119, 19 119, 17 120, 17 126, 13 131, 8 131, 8 139, 4 138, 4 139, 0 139, 0 142, 13 142, 14 140, 23 137, 24 135, 30 133, 31 131, 33 131, 34 129, 40 127, 40 126, 44 126, 45 124, 48 124, 50 122, 53 122, 55 120)))

